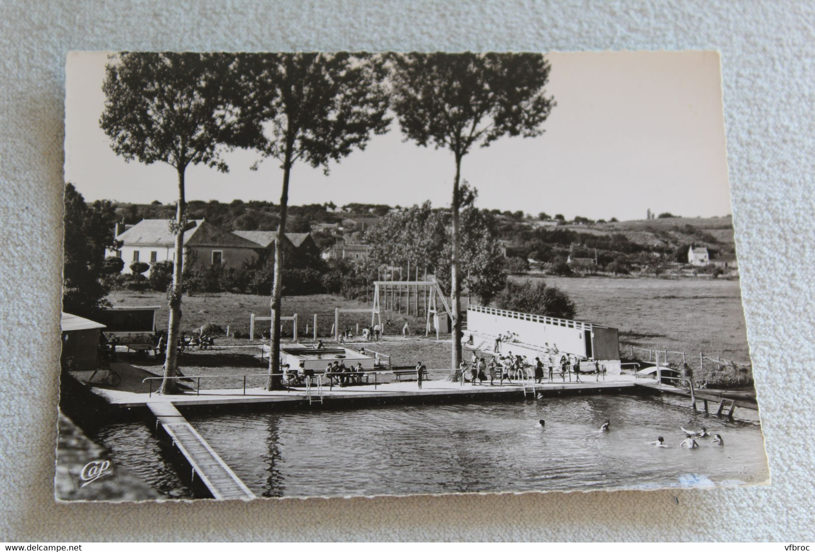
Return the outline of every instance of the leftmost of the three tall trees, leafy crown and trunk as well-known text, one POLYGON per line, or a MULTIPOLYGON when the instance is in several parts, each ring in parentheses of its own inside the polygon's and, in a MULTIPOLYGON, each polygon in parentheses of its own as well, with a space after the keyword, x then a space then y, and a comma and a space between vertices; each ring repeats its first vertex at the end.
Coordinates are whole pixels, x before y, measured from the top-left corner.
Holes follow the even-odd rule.
POLYGON ((170 320, 161 393, 177 392, 178 328, 181 321, 185 173, 191 164, 227 172, 222 143, 234 127, 225 90, 234 57, 221 54, 125 52, 105 68, 104 112, 99 125, 126 161, 169 164, 178 200, 170 232, 175 237, 173 281, 167 288, 170 320))

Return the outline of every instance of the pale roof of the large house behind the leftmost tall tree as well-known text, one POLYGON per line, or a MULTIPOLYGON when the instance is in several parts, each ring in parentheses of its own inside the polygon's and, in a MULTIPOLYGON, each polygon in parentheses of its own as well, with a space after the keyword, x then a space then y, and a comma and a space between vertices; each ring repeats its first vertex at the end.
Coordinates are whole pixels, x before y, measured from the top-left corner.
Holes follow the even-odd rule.
MULTIPOLYGON (((165 218, 144 219, 117 236, 129 246, 173 247, 175 236, 165 218)), ((258 244, 215 226, 204 219, 187 223, 184 231, 185 246, 212 246, 216 248, 257 248, 258 244)))

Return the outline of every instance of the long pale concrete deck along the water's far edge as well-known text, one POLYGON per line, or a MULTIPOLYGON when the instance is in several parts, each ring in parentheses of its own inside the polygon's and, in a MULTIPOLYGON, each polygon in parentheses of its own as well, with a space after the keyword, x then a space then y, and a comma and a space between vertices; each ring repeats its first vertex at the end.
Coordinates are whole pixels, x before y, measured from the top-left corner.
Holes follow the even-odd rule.
MULTIPOLYGON (((117 371, 121 369, 117 367, 117 371)), ((143 376, 142 376, 143 377, 143 376)), ((242 375, 236 375, 237 378, 242 375)), ((195 377, 192 376, 193 382, 195 377)), ((256 378, 257 379, 257 378, 256 378)), ((651 387, 656 385, 653 380, 635 379, 632 375, 607 376, 605 380, 595 381, 594 375, 585 375, 583 383, 558 382, 537 383, 535 393, 541 392, 544 396, 557 396, 566 394, 592 394, 601 392, 621 392, 623 389, 633 391, 635 387, 651 387)), ((195 386, 195 383, 192 383, 195 386)), ((157 388, 157 382, 154 388, 157 388)), ((178 406, 203 406, 203 405, 239 405, 257 403, 303 403, 308 404, 308 392, 305 388, 294 388, 290 391, 266 391, 261 387, 246 388, 224 388, 224 389, 201 389, 186 390, 176 395, 159 395, 156 392, 128 391, 120 388, 110 388, 95 386, 93 392, 104 398, 108 404, 120 408, 143 407, 148 403, 170 402, 178 406)), ((526 392, 521 383, 504 383, 504 385, 491 386, 471 385, 465 383, 454 383, 446 379, 434 379, 422 382, 422 388, 418 388, 415 379, 413 381, 373 383, 354 385, 348 388, 341 388, 335 385, 330 389, 325 385, 322 389, 322 396, 327 402, 345 401, 377 401, 377 400, 416 400, 421 397, 433 397, 435 400, 447 396, 450 398, 464 398, 465 396, 506 396, 515 394, 518 398, 531 396, 531 383, 526 384, 526 392)), ((311 388, 312 400, 318 396, 317 388, 311 388)), ((314 404, 314 403, 312 403, 314 404)), ((319 405, 319 401, 316 402, 319 405)))

